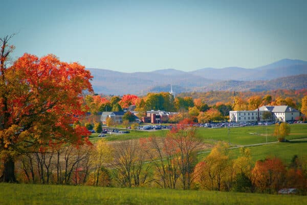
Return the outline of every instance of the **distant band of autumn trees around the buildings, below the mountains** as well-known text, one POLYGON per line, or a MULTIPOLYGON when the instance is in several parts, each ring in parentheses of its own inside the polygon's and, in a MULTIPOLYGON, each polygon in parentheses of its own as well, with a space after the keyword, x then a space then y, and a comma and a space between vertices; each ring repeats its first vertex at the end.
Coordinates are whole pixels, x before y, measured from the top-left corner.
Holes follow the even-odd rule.
MULTIPOLYGON (((102 111, 122 111, 122 108, 127 108, 134 105, 135 111, 138 111, 139 118, 146 116, 148 110, 164 110, 168 112, 178 112, 179 114, 172 115, 164 122, 177 123, 184 118, 190 118, 194 122, 205 123, 212 121, 229 120, 229 111, 234 110, 255 110, 261 106, 280 106, 287 105, 296 109, 300 109, 303 113, 301 120, 307 115, 307 95, 299 99, 299 103, 292 97, 282 98, 280 96, 273 99, 269 94, 261 97, 260 95, 242 98, 239 96, 232 97, 232 101, 228 103, 217 102, 209 106, 206 100, 201 98, 192 98, 190 96, 175 97, 170 93, 148 93, 144 97, 136 95, 113 96, 110 100, 100 95, 87 95, 85 104, 90 108, 93 114, 102 111)), ((264 115, 269 120, 270 115, 264 115)), ((298 120, 298 119, 297 119, 298 120)), ((91 121, 91 120, 89 120, 91 121)))

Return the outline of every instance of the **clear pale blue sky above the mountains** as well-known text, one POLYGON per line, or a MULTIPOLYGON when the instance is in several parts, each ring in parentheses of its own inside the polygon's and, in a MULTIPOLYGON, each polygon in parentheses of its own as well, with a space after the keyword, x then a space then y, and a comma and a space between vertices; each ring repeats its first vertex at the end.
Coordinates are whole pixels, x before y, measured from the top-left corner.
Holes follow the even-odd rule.
POLYGON ((4 1, 14 56, 122 72, 307 60, 307 1, 4 1))

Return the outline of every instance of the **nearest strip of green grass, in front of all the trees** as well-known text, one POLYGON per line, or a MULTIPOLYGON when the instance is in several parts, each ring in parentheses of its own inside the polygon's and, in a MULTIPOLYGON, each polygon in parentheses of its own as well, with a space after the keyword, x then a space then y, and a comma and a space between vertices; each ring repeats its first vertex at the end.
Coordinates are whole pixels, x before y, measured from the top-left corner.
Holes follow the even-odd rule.
POLYGON ((307 204, 306 196, 0 183, 0 204, 307 204))

